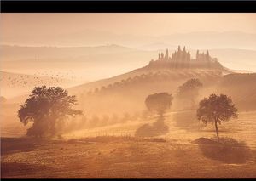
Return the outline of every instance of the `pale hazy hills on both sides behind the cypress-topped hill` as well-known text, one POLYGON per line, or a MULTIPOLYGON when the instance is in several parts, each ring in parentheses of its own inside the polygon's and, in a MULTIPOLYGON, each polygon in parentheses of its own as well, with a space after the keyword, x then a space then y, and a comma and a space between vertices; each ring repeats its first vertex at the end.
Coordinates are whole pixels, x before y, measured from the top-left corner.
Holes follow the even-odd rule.
MULTIPOLYGON (((156 44, 157 45, 157 44, 156 44)), ((165 45, 165 44, 164 44, 165 45)), ((163 46, 164 46, 163 45, 163 46)), ((177 46, 175 46, 177 47, 177 46)), ((163 49, 163 47, 160 47, 163 49)), ((169 53, 175 52, 173 45, 167 46, 169 53)), ((1 46, 2 71, 15 71, 34 74, 36 71, 58 71, 72 74, 83 82, 124 74, 143 67, 150 59, 156 58, 159 48, 129 48, 121 45, 102 45, 95 47, 24 47, 1 46), (29 65, 29 66, 28 66, 29 65), (75 71, 72 71, 75 70, 75 71), (71 72, 72 71, 72 72, 71 72)), ((163 49, 161 51, 166 51, 163 49)), ((201 52, 207 52, 201 49, 201 52)), ((212 57, 232 70, 256 71, 254 57, 256 51, 246 49, 209 49, 212 57)), ((195 57, 196 49, 190 50, 195 57)))

